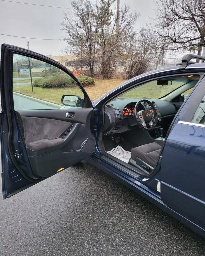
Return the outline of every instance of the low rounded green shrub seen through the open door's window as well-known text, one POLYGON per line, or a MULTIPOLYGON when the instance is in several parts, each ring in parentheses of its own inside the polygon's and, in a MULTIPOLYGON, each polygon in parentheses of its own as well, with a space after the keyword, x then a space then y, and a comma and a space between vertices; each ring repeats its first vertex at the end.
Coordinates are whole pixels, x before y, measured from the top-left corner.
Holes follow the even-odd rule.
POLYGON ((41 88, 63 88, 74 87, 75 81, 69 76, 45 76, 34 81, 34 87, 41 88))

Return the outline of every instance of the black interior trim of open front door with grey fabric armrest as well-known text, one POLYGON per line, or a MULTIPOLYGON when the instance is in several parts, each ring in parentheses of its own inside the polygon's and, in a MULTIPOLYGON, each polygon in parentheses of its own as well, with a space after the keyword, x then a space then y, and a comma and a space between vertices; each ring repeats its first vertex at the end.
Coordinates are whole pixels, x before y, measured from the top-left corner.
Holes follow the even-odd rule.
POLYGON ((31 116, 19 118, 23 123, 22 133, 32 170, 37 177, 45 178, 60 168, 66 169, 94 151, 94 136, 85 124, 75 122, 79 119, 78 114, 72 122, 31 116), (64 137, 68 129, 69 133, 64 137), (61 135, 64 138, 60 138, 61 135))

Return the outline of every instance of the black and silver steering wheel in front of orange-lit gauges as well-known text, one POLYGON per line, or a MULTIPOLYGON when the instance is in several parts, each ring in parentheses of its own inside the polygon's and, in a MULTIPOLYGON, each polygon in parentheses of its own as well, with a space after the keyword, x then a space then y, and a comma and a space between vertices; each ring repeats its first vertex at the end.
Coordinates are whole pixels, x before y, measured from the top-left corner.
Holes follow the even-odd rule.
POLYGON ((146 131, 151 131, 157 124, 157 111, 155 106, 149 100, 140 100, 135 105, 134 117, 140 128, 146 131), (138 106, 141 102, 148 103, 152 110, 144 109, 137 112, 138 106))

